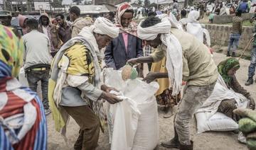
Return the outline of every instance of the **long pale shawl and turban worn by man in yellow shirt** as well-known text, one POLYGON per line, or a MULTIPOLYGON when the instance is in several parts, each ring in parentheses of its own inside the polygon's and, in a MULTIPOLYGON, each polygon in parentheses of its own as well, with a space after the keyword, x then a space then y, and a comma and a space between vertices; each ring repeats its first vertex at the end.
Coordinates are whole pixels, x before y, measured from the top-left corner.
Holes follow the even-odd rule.
MULTIPOLYGON (((65 71, 60 70, 60 68, 58 67, 58 62, 63 57, 63 54, 66 50, 68 50, 71 46, 75 45, 75 43, 81 42, 82 45, 85 45, 92 54, 92 61, 95 67, 94 83, 95 87, 100 89, 100 86, 102 85, 102 81, 100 79, 101 69, 100 65, 98 64, 98 54, 100 54, 100 50, 98 48, 97 41, 93 33, 108 35, 112 38, 115 38, 119 35, 119 28, 115 27, 114 24, 110 23, 110 21, 107 21, 107 19, 105 18, 97 18, 94 25, 82 28, 82 31, 78 36, 68 40, 68 42, 66 42, 65 45, 63 45, 60 48, 52 62, 50 74, 50 80, 52 81, 50 82, 55 82, 55 85, 52 85, 54 86, 54 92, 49 94, 50 108, 53 110, 53 118, 55 120, 55 125, 58 126, 56 127, 56 129, 62 128, 61 132, 63 135, 65 135, 66 132, 65 127, 66 123, 68 122, 68 113, 66 113, 65 110, 63 110, 63 108, 59 108, 58 103, 60 103, 61 89, 63 88, 64 81, 67 78, 67 76, 64 75, 65 71), (64 126, 61 124, 64 124, 64 126)), ((98 100, 97 102, 92 102, 92 110, 94 110, 94 112, 100 117, 100 120, 104 120, 105 114, 103 113, 102 102, 100 100, 98 100)))

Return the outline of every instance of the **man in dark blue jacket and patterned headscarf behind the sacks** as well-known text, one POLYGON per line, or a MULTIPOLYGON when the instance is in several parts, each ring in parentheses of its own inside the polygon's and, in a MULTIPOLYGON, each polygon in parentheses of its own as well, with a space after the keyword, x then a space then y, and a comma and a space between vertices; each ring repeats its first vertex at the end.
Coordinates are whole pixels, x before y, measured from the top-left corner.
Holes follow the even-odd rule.
POLYGON ((143 56, 142 40, 136 37, 137 24, 132 22, 134 11, 132 6, 124 4, 117 9, 117 23, 120 33, 105 50, 107 67, 120 69, 127 60, 143 56))

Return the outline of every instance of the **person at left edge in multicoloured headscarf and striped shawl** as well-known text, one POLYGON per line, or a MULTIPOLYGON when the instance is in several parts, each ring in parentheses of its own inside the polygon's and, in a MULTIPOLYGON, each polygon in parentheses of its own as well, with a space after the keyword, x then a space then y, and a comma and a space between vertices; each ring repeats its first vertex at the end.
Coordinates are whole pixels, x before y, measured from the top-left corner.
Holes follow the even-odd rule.
POLYGON ((0 150, 47 149, 41 100, 14 78, 23 64, 22 54, 22 40, 0 25, 0 150))

